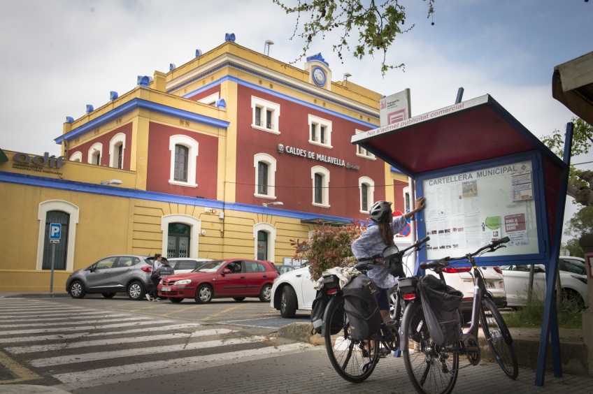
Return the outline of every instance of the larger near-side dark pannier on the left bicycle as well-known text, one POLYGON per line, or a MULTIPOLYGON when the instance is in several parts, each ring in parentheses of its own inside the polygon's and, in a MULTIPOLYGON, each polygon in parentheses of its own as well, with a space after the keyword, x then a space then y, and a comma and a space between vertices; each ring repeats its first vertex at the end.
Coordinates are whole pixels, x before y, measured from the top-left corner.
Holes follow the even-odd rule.
POLYGON ((366 340, 378 333, 381 313, 375 299, 377 286, 366 275, 358 275, 342 289, 344 310, 354 340, 366 340))

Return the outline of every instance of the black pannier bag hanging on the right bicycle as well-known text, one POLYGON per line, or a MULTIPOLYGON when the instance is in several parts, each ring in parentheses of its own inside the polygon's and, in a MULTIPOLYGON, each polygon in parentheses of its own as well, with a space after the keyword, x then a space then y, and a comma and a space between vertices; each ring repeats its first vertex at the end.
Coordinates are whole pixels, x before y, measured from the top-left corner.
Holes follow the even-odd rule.
POLYGON ((461 305, 463 293, 427 275, 417 284, 422 297, 424 321, 433 342, 439 346, 454 344, 462 335, 461 305))

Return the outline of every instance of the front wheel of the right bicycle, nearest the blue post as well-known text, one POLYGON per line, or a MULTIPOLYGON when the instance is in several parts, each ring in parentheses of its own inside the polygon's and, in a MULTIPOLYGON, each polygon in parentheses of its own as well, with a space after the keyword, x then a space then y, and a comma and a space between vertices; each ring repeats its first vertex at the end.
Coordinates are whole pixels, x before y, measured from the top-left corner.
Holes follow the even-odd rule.
POLYGON ((490 298, 482 299, 482 307, 480 308, 480 324, 490 350, 494 353, 494 358, 499 363, 504 373, 510 379, 517 379, 519 375, 519 366, 517 365, 517 356, 515 349, 513 349, 513 338, 502 319, 502 316, 494 301, 490 298))

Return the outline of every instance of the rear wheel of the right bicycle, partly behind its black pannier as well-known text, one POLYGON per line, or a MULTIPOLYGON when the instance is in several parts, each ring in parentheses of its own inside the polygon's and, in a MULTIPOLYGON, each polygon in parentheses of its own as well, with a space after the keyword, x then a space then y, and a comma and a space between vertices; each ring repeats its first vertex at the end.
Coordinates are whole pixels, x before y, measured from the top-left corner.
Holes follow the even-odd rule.
POLYGON ((452 347, 445 348, 432 342, 420 300, 406 307, 401 327, 403 364, 416 391, 451 393, 457 381, 459 353, 452 347))

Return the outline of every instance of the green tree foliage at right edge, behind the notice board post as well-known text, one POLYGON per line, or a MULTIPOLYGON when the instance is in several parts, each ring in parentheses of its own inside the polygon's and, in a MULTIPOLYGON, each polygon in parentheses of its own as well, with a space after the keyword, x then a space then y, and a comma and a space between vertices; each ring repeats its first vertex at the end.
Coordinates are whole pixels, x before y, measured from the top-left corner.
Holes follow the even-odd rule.
MULTIPOLYGON (((593 144, 593 126, 583 119, 573 117, 573 143, 571 156, 587 154, 593 144)), ((564 131, 555 130, 552 136, 543 138, 543 143, 552 149, 555 154, 564 157, 564 131)), ((593 171, 579 170, 571 165, 569 175, 569 188, 566 192, 575 199, 575 202, 585 207, 593 206, 593 171)))

